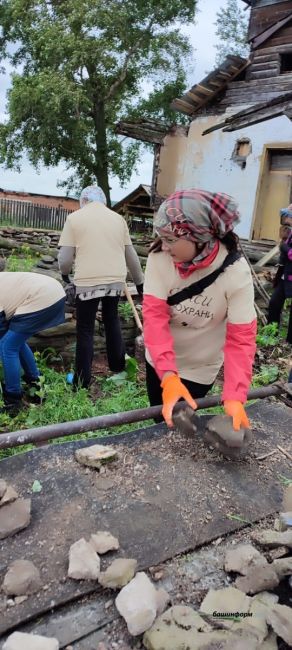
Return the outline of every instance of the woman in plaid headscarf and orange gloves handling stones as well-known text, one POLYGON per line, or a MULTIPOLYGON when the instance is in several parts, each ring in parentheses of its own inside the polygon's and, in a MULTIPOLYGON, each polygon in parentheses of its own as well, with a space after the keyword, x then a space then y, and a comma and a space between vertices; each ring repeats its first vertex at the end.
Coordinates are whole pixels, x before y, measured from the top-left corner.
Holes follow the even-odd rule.
POLYGON ((150 404, 163 403, 169 426, 178 400, 196 409, 223 360, 225 413, 234 429, 249 426, 243 405, 256 314, 250 269, 232 232, 238 222, 230 196, 195 189, 169 196, 154 218, 158 238, 147 260, 143 300, 146 381, 150 404))

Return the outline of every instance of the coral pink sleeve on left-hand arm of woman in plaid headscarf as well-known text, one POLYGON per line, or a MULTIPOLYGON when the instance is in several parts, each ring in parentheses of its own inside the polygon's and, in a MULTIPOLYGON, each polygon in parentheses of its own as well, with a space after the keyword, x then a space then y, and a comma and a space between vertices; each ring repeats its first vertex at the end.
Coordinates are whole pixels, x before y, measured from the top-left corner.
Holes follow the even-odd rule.
POLYGON ((144 342, 160 379, 162 379, 165 372, 178 373, 169 319, 170 307, 167 302, 161 298, 144 294, 144 342))

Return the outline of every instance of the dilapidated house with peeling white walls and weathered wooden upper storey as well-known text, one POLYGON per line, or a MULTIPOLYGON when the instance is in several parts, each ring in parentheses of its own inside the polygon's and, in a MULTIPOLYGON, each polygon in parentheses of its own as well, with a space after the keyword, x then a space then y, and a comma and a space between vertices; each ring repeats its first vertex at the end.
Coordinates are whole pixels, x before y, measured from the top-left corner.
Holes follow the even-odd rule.
POLYGON ((175 189, 227 192, 240 206, 239 235, 273 241, 292 201, 292 0, 243 1, 250 57, 228 56, 174 100, 190 124, 118 128, 155 145, 154 206, 175 189))

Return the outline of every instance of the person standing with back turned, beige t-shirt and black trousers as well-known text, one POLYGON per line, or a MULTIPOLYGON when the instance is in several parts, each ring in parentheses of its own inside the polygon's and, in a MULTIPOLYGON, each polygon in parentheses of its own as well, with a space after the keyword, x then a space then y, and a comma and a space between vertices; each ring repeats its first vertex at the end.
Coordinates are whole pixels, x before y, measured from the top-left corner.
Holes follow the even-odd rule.
POLYGON ((121 215, 106 207, 102 189, 82 190, 80 209, 68 215, 59 241, 59 268, 65 282, 74 264, 76 292, 76 357, 73 386, 88 388, 94 351, 96 312, 101 301, 108 365, 125 368, 125 344, 118 315, 127 268, 139 295, 144 276, 128 226, 121 215))

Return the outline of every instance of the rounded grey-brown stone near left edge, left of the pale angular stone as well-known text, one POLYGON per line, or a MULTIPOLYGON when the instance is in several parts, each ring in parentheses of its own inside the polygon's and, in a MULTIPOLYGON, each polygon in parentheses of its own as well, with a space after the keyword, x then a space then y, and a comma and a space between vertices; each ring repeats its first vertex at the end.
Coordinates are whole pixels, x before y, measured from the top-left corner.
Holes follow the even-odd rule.
POLYGON ((7 596, 33 594, 41 586, 39 570, 30 560, 16 560, 9 567, 2 585, 7 596))

